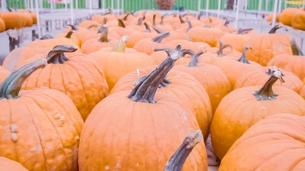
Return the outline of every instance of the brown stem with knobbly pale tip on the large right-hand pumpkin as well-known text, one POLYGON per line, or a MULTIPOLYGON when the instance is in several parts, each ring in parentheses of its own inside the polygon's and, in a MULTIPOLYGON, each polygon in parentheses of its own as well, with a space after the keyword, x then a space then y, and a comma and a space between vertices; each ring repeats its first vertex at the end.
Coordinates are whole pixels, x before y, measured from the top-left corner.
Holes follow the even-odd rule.
POLYGON ((281 83, 285 83, 282 78, 282 73, 277 70, 271 72, 272 75, 270 76, 269 80, 265 83, 264 86, 259 91, 256 91, 253 95, 256 97, 257 100, 274 100, 278 96, 278 94, 274 93, 272 90, 273 84, 275 84, 278 79, 280 79, 281 83))

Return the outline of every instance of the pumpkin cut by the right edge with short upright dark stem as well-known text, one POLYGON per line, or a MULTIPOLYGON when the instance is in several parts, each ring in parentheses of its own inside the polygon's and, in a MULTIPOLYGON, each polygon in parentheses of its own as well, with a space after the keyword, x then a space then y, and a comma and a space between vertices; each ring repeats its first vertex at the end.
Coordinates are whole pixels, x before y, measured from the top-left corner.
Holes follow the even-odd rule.
POLYGON ((303 80, 305 78, 305 56, 293 38, 290 40, 290 45, 292 54, 275 56, 268 62, 268 66, 278 66, 303 80))

